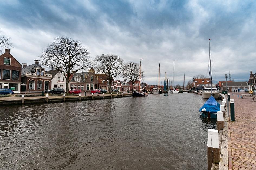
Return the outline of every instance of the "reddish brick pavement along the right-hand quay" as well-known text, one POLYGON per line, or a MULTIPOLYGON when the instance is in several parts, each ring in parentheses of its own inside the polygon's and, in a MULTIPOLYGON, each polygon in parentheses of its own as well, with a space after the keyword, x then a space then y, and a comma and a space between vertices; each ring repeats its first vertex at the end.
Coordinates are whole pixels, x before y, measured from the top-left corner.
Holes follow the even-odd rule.
POLYGON ((230 94, 235 100, 235 122, 228 122, 229 170, 256 169, 256 101, 249 95, 240 98, 248 93, 230 94))

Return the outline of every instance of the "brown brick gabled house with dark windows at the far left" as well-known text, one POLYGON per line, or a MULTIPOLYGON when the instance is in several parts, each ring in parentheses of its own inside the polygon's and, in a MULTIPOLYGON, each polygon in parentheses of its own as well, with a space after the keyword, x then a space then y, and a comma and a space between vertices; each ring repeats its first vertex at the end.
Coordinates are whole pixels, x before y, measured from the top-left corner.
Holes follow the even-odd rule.
POLYGON ((0 56, 0 89, 12 89, 14 93, 21 90, 21 64, 10 54, 9 49, 0 56))

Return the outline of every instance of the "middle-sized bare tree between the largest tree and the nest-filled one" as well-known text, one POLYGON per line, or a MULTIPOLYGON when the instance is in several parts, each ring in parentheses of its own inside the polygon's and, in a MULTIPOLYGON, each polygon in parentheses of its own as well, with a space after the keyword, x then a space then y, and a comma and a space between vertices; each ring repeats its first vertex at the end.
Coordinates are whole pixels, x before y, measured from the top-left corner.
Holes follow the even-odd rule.
POLYGON ((105 73, 109 80, 109 90, 111 89, 111 80, 122 73, 123 60, 115 54, 102 54, 95 58, 96 70, 105 73))

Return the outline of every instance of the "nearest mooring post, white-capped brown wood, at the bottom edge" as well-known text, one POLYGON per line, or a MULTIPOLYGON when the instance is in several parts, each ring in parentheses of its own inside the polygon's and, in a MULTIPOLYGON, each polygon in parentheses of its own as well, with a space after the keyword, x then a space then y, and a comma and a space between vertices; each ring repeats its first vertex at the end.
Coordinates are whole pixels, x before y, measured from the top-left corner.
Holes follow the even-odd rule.
POLYGON ((219 164, 219 132, 215 129, 208 129, 207 137, 207 159, 208 170, 211 170, 212 163, 219 164))

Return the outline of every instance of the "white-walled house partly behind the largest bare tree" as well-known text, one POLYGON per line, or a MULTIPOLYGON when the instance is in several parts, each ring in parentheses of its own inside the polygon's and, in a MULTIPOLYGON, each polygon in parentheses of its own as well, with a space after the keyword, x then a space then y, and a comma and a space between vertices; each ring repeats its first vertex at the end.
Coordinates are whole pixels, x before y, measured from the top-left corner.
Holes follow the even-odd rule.
POLYGON ((51 89, 52 88, 61 88, 66 92, 66 78, 65 76, 59 72, 58 70, 49 70, 47 71, 49 74, 52 74, 51 80, 51 89))

